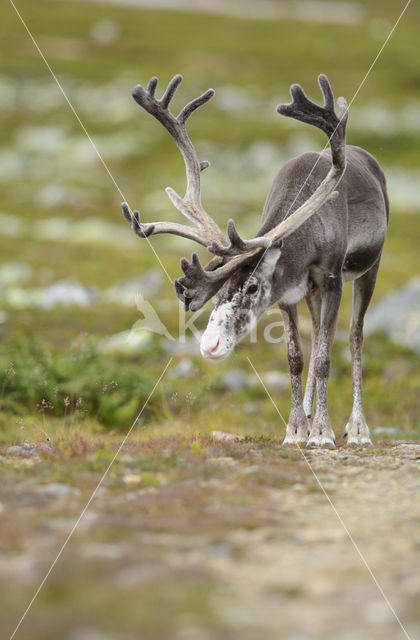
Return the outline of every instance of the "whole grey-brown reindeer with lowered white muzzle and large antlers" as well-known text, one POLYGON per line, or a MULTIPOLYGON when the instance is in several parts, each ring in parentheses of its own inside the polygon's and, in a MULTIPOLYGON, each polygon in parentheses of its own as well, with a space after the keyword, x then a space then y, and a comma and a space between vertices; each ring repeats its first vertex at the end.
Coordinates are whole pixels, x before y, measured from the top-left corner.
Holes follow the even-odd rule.
POLYGON ((255 238, 244 240, 233 220, 227 239, 206 213, 200 196, 200 174, 209 166, 198 160, 188 137, 191 114, 207 103, 214 91, 189 102, 175 117, 169 104, 182 80, 175 76, 163 97, 155 97, 157 78, 147 89, 137 85, 134 100, 167 129, 185 161, 187 189, 181 198, 168 187, 175 207, 195 226, 174 222, 143 223, 138 211, 122 209, 141 238, 172 233, 193 240, 214 255, 203 268, 196 253, 183 258, 184 276, 175 291, 186 310, 200 309, 216 296, 215 308, 201 339, 205 358, 226 358, 259 317, 277 303, 283 315, 291 376, 291 411, 283 445, 334 448, 336 440, 327 409, 330 354, 343 281, 353 281, 350 329, 353 409, 345 429, 348 445, 371 445, 362 407, 363 318, 375 287, 389 217, 384 174, 375 158, 346 145, 348 107, 334 96, 325 75, 318 83, 323 106, 309 100, 298 84, 290 88, 292 102, 277 107, 279 114, 321 129, 329 149, 289 160, 274 179, 255 238), (305 298, 312 318, 312 352, 302 398, 303 354, 297 303, 305 298), (316 391, 316 408, 313 413, 316 391))

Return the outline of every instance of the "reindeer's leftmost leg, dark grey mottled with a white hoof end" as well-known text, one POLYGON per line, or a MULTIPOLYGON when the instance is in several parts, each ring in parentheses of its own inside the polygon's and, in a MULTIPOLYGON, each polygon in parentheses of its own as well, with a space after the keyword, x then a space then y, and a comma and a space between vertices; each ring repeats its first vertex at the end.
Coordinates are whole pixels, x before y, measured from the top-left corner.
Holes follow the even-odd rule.
POLYGON ((280 308, 287 336, 292 407, 283 446, 305 446, 308 440, 308 421, 302 403, 303 352, 299 335, 296 305, 280 308))

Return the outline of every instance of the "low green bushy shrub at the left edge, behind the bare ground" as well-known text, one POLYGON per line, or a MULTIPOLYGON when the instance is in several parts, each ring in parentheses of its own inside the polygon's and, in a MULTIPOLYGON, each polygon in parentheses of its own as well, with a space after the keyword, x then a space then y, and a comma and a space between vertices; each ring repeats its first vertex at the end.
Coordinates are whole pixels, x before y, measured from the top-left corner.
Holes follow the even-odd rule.
MULTIPOLYGON (((62 417, 64 425, 93 417, 112 428, 132 422, 152 390, 139 363, 121 367, 112 356, 98 353, 79 339, 63 353, 51 353, 33 340, 3 345, 0 387, 4 415, 62 417)), ((153 411, 159 392, 146 408, 153 411)))

